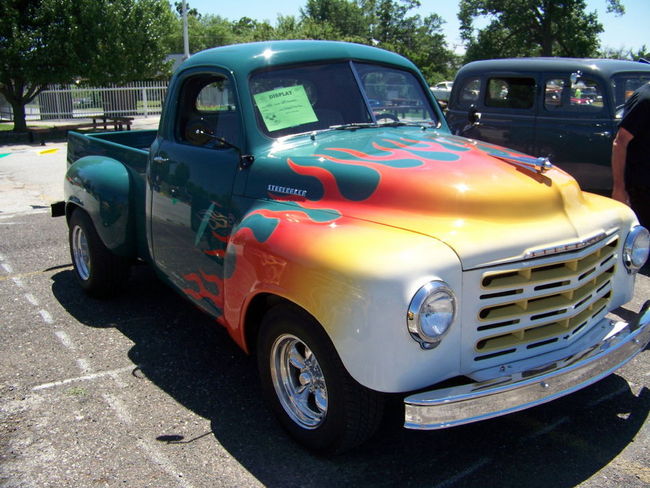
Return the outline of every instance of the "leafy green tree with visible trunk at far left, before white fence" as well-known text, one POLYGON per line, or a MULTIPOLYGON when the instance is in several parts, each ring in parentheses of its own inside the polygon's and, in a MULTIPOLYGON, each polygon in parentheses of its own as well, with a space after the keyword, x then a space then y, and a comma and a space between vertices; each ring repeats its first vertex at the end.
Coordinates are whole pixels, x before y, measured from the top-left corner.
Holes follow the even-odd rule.
POLYGON ((85 79, 123 83, 164 69, 173 17, 166 0, 3 0, 0 93, 14 130, 47 85, 85 79))

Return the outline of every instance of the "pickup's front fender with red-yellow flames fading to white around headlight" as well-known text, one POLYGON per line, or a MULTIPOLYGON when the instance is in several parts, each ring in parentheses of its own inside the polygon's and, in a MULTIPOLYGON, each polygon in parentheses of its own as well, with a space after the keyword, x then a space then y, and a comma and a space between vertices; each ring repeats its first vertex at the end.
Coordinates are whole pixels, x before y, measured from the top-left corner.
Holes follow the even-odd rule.
MULTIPOLYGON (((290 302, 322 326, 356 381, 377 391, 409 391, 430 384, 432 371, 448 377, 459 368, 460 327, 435 351, 423 351, 407 329, 412 297, 434 280, 460 291, 458 257, 436 239, 335 211, 265 203, 228 244, 225 322, 248 350, 254 337, 244 329, 255 327, 247 315, 259 305, 256 297, 290 302)), ((250 313, 259 318, 258 310, 250 313)))

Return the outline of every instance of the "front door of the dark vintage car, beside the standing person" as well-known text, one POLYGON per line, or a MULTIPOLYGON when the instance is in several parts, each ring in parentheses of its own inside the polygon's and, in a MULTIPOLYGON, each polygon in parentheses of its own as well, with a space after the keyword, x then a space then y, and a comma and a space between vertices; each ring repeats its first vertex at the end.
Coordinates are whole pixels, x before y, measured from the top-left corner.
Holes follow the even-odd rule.
POLYGON ((590 75, 556 73, 546 74, 542 84, 535 154, 549 157, 584 189, 609 190, 617 127, 603 83, 590 75))

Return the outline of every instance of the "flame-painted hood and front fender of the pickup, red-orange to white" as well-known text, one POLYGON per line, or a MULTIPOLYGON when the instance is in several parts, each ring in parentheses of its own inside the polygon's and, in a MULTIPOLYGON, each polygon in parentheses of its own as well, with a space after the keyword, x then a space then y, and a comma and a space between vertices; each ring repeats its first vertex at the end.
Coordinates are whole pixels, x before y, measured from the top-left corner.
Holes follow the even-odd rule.
POLYGON ((561 170, 540 175, 492 157, 504 155, 534 161, 404 128, 270 145, 233 204, 241 217, 230 238, 219 235, 205 251, 225 259, 218 287, 225 301, 213 300, 220 321, 246 348, 242 311, 256 294, 272 293, 317 317, 366 385, 398 391, 454 374, 457 363, 439 358, 458 356, 460 327, 427 358, 409 357, 414 343, 405 337, 403 311, 420 286, 442 279, 460 290, 461 267, 522 259, 542 242, 569 242, 629 219, 608 199, 583 195, 561 170), (269 192, 269 185, 305 196, 269 192), (392 360, 378 354, 386 344, 392 360), (375 353, 360 364, 359 348, 375 353), (391 361, 395 369, 408 364, 410 379, 378 378, 391 361))

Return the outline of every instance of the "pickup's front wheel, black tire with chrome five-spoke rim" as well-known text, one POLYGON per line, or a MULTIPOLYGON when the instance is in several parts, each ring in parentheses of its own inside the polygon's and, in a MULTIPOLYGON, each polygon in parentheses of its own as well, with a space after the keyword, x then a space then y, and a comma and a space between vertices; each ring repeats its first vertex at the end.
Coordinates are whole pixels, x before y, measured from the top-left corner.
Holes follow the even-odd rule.
POLYGON ((280 423, 312 451, 347 451, 365 442, 381 422, 384 396, 348 374, 320 324, 300 309, 280 305, 266 314, 257 364, 262 391, 280 423), (289 361, 296 357, 289 351, 302 368, 289 361), (308 391, 303 397, 297 394, 301 387, 308 391))

